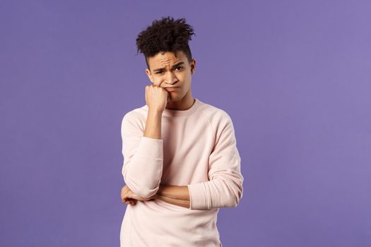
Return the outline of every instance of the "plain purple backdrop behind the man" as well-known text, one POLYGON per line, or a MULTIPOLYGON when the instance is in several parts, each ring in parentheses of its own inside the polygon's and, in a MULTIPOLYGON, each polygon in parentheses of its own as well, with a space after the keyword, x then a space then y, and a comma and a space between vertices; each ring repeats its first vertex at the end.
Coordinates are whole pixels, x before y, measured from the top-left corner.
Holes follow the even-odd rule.
POLYGON ((245 176, 223 246, 371 246, 370 1, 1 1, 0 245, 119 246, 136 35, 196 36, 194 97, 232 117, 245 176))

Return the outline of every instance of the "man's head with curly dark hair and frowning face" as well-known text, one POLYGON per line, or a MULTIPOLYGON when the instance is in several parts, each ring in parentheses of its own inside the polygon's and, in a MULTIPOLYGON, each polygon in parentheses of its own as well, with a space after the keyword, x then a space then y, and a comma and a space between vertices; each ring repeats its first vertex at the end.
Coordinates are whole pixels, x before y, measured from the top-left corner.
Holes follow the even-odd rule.
POLYGON ((192 73, 196 60, 192 59, 189 40, 194 35, 192 26, 184 18, 166 17, 154 20, 151 26, 139 33, 136 46, 146 59, 148 78, 154 85, 170 88, 170 100, 182 100, 190 92, 192 73))

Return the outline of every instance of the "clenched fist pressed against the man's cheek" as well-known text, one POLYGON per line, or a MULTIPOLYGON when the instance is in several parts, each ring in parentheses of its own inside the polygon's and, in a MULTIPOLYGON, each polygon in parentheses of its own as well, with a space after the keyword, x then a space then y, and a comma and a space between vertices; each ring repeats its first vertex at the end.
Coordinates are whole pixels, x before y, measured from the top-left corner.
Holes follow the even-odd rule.
POLYGON ((157 85, 146 85, 146 104, 148 109, 163 112, 170 99, 169 92, 157 85))

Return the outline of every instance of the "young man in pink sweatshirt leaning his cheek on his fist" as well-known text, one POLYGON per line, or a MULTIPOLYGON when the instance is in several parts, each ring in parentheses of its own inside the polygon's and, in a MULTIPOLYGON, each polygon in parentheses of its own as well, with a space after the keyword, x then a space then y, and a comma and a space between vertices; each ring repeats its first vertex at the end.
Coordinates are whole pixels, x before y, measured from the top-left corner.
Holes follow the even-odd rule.
POLYGON ((136 39, 152 84, 146 105, 122 119, 121 247, 222 246, 218 210, 242 198, 232 120, 192 97, 193 34, 184 18, 167 17, 136 39))

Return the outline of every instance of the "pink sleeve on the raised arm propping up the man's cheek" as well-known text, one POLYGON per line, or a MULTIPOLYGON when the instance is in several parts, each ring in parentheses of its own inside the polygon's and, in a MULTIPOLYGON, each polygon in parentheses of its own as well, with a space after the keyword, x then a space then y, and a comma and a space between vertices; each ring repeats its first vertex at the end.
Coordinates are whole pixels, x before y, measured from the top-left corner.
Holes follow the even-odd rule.
POLYGON ((128 112, 122 119, 122 176, 126 185, 143 198, 157 193, 163 173, 163 140, 143 136, 139 115, 128 112))

